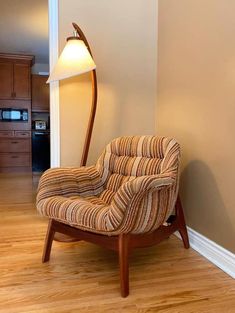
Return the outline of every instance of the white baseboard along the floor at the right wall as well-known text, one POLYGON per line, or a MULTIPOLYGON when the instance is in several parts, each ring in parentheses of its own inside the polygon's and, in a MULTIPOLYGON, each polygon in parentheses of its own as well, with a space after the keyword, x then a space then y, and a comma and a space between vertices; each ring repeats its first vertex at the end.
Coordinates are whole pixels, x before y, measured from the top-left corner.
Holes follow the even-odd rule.
MULTIPOLYGON (((191 248, 235 279, 235 254, 222 248, 190 227, 187 227, 187 229, 191 248)), ((175 235, 181 239, 178 232, 175 235)))

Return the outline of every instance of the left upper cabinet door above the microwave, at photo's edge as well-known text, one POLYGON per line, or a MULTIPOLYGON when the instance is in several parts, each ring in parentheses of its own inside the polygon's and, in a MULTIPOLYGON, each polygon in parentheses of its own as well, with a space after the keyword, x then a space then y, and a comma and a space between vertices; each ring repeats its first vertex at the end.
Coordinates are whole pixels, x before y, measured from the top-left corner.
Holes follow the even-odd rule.
POLYGON ((0 62, 0 99, 11 99, 13 96, 13 64, 0 62))

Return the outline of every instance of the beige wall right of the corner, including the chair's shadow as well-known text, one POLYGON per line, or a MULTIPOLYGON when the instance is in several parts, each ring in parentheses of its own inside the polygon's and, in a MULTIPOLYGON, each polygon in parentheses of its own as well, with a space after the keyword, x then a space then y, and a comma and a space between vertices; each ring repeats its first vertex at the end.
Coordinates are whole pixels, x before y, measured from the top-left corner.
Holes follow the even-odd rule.
POLYGON ((235 1, 160 0, 157 130, 182 145, 187 223, 235 252, 235 1))

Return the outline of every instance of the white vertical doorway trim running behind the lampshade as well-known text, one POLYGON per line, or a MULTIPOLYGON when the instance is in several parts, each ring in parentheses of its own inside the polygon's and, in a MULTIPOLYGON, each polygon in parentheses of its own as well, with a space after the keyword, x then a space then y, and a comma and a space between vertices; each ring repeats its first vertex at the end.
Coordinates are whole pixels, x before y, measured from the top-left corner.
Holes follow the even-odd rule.
MULTIPOLYGON (((50 69, 58 59, 59 0, 48 0, 50 69)), ((59 83, 50 83, 51 167, 60 166, 60 107, 59 83)))

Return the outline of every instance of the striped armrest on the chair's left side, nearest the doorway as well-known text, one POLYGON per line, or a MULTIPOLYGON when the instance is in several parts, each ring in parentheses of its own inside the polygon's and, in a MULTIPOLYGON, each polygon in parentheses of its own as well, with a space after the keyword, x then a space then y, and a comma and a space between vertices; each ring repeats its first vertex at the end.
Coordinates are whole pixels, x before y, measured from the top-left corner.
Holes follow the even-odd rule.
POLYGON ((97 195, 102 190, 100 174, 95 166, 53 168, 47 170, 40 178, 37 204, 49 197, 97 195))

